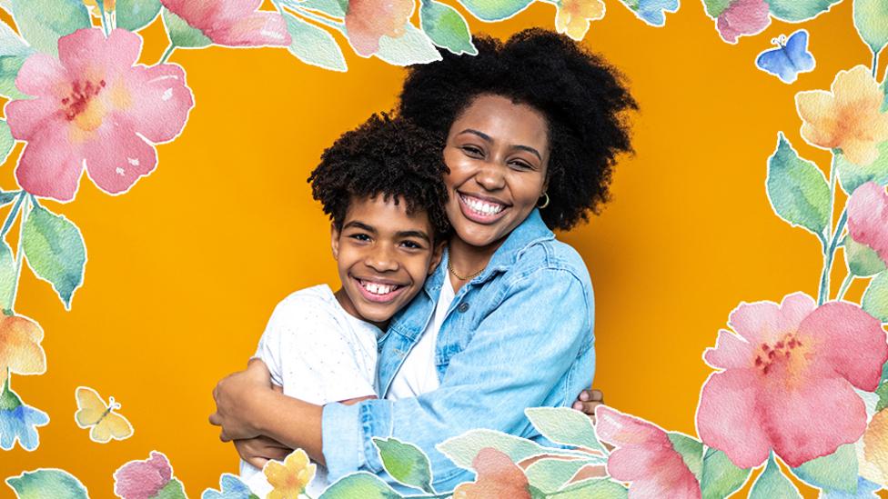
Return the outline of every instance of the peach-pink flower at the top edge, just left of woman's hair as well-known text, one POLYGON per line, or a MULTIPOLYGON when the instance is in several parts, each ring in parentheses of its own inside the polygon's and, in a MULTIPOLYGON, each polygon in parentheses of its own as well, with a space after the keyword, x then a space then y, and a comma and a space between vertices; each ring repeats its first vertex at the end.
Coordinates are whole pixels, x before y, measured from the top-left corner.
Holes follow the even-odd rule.
POLYGON ((379 50, 379 38, 398 38, 413 15, 413 0, 349 0, 346 13, 348 42, 368 57, 379 50))

